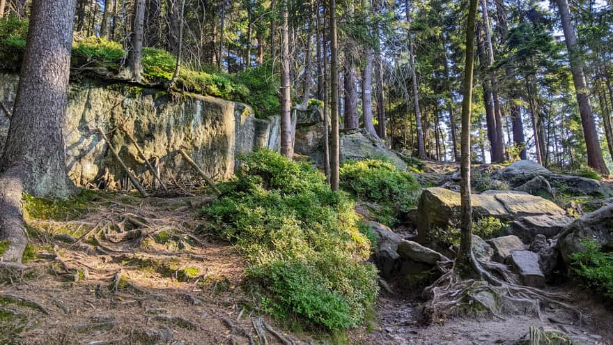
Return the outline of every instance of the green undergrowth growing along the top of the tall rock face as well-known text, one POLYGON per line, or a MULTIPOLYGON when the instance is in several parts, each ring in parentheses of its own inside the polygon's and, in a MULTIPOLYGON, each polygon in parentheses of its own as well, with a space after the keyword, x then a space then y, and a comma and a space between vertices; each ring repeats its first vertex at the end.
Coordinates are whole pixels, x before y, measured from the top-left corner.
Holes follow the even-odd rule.
MULTIPOLYGON (((0 69, 20 68, 26 36, 27 20, 10 15, 0 20, 0 69)), ((143 48, 144 86, 165 86, 173 77, 176 56, 164 49, 143 48)), ((95 36, 75 36, 72 43, 72 74, 90 72, 99 77, 119 75, 127 63, 120 43, 95 36)), ((183 66, 176 82, 176 91, 211 95, 245 102, 254 107, 258 118, 279 113, 277 90, 281 82, 272 66, 265 64, 238 75, 219 72, 214 66, 183 66)))

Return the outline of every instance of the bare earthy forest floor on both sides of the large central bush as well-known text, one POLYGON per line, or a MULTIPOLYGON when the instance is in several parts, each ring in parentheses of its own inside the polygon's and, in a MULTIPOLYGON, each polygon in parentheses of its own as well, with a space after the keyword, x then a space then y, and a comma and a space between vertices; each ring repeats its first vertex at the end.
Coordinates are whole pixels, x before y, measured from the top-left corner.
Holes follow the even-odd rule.
MULTIPOLYGON (((265 344, 262 335, 267 344, 325 342, 281 330, 254 310, 256 298, 242 289, 244 257, 201 231, 206 223, 196 214, 211 198, 100 194, 78 212, 26 216, 31 268, 22 277, 0 275, 0 344, 265 344)), ((583 312, 582 324, 545 310, 541 319, 459 318, 424 327, 419 296, 392 284, 378 298, 375 320, 345 342, 514 344, 536 325, 583 344, 613 344, 613 314, 602 301, 569 286, 550 289, 583 312)))

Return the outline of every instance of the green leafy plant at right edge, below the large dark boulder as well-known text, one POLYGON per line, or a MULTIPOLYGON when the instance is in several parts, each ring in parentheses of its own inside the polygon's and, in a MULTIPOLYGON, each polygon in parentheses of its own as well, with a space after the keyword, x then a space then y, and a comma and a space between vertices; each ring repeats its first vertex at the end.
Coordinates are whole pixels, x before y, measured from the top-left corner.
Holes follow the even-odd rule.
POLYGON ((571 270, 582 284, 613 299, 613 253, 603 252, 603 248, 591 238, 582 240, 581 244, 584 250, 571 254, 571 270))

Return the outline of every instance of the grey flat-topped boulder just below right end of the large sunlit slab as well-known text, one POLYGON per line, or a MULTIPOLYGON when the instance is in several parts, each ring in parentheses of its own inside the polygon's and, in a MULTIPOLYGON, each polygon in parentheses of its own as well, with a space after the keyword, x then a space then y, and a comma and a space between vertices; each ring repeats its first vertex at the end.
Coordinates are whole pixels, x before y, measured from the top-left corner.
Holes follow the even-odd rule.
POLYGON ((571 224, 573 220, 566 215, 531 215, 520 217, 511 223, 511 233, 518 236, 524 243, 532 243, 536 235, 546 238, 556 236, 571 224))

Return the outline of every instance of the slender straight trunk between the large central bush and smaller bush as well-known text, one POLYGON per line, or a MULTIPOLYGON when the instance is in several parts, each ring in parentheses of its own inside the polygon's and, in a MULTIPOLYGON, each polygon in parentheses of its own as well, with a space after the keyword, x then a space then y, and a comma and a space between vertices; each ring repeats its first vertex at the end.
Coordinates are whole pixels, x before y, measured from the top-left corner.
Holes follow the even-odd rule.
POLYGON ((336 42, 336 0, 329 0, 328 8, 330 16, 330 121, 332 122, 332 137, 330 143, 330 187, 332 190, 339 190, 339 160, 340 160, 340 138, 339 138, 339 47, 336 42))

